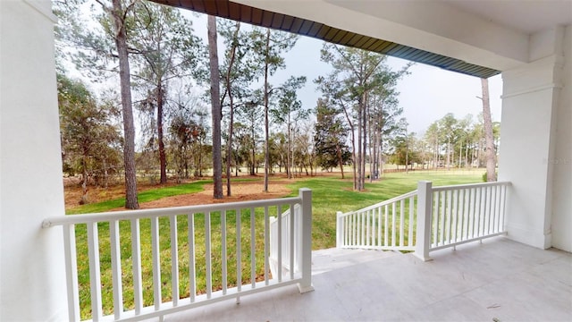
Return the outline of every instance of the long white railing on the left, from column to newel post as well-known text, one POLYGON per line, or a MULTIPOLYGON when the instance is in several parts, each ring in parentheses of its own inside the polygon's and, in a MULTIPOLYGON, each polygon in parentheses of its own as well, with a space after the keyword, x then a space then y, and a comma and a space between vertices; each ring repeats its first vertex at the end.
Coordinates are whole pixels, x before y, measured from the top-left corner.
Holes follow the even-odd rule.
MULTIPOLYGON (((282 285, 313 290, 311 202, 301 189, 296 198, 58 216, 43 227, 63 227, 70 320, 141 320, 282 285), (270 216, 297 207, 286 240, 299 248, 299 271, 273 278, 270 216)), ((275 251, 292 265, 291 253, 275 251)))

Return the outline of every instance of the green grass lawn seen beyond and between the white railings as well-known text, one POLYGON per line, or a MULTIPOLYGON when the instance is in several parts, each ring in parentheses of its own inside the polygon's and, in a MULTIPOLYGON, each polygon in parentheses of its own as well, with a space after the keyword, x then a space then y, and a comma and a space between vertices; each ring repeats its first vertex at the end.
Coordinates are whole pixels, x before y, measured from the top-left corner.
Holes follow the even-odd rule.
MULTIPOLYGON (((335 176, 319 176, 313 178, 302 178, 295 183, 289 185, 292 190, 291 196, 297 196, 299 188, 309 188, 313 191, 313 249, 324 249, 335 247, 335 225, 336 212, 347 212, 370 206, 374 203, 391 199, 408 191, 416 190, 416 182, 420 180, 432 181, 434 186, 481 182, 482 171, 475 172, 412 172, 409 174, 387 174, 381 181, 366 183, 366 191, 352 191, 351 179, 341 180, 335 176)), ((212 181, 201 181, 181 184, 174 187, 161 188, 156 190, 144 191, 139 194, 139 201, 145 202, 150 200, 161 199, 174 195, 193 193, 202 191, 205 184, 212 181)), ((124 199, 115 199, 95 204, 86 205, 80 208, 74 208, 73 214, 103 212, 114 208, 121 208, 124 199)), ((285 209, 282 209, 282 211, 285 209)), ((270 209, 275 214, 276 209, 270 209)), ((243 211, 241 213, 241 235, 242 235, 242 280, 248 281, 250 278, 250 213, 243 211)), ((256 232, 264 232, 264 214, 259 209, 256 210, 256 232)), ((221 214, 214 213, 211 215, 212 225, 212 249, 211 256, 213 260, 213 284, 214 288, 220 287, 221 281, 221 214)), ((189 245, 188 245, 188 229, 187 216, 178 216, 178 241, 179 241, 179 259, 180 259, 180 290, 181 297, 189 296, 189 245)), ((236 214, 234 212, 227 213, 227 243, 228 243, 228 263, 229 263, 229 285, 236 283, 236 214)), ((201 227, 205 226, 205 216, 200 214, 195 216, 195 232, 196 238, 196 257, 198 272, 198 292, 204 292, 206 287, 205 281, 205 233, 201 227)), ((140 220, 140 239, 141 239, 141 261, 143 271, 143 297, 145 305, 153 304, 153 286, 152 286, 152 255, 151 255, 151 231, 150 220, 140 220)), ((170 253, 170 228, 168 218, 160 218, 160 253, 161 253, 161 281, 163 301, 171 300, 171 253, 170 253)), ((125 309, 133 308, 133 290, 131 275, 131 242, 130 242, 130 222, 120 222, 121 236, 121 253, 122 253, 122 272, 123 272, 123 298, 125 301, 125 309)), ((113 290, 111 286, 111 256, 109 250, 109 224, 100 223, 98 225, 99 233, 99 249, 101 264, 101 282, 102 296, 104 299, 105 314, 111 314, 113 310, 113 290)), ((78 254, 78 281, 80 284, 80 309, 81 318, 90 317, 90 299, 89 299, 89 275, 88 275, 88 245, 87 245, 87 227, 86 225, 76 226, 76 243, 78 254)), ((257 278, 264 277, 264 233, 257 233, 256 261, 257 278)))

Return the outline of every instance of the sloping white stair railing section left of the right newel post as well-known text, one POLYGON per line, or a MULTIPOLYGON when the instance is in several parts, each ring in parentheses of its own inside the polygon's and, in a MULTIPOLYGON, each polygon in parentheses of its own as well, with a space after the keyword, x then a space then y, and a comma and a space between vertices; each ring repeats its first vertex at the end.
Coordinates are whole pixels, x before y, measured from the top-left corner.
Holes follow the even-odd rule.
POLYGON ((416 191, 357 211, 337 214, 336 246, 415 250, 416 191))

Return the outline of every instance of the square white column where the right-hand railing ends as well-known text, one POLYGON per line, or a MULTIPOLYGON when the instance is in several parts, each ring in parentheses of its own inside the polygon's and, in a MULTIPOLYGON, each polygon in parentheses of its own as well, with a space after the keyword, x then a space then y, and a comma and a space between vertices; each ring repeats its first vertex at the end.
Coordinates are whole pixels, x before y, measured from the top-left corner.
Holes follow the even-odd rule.
MULTIPOLYGON (((563 35, 561 27, 535 34, 530 41, 532 63, 502 73, 499 180, 512 182, 508 235, 543 249, 552 245, 556 124, 558 98, 564 86, 563 35)), ((569 138, 566 140, 569 145, 569 138)))

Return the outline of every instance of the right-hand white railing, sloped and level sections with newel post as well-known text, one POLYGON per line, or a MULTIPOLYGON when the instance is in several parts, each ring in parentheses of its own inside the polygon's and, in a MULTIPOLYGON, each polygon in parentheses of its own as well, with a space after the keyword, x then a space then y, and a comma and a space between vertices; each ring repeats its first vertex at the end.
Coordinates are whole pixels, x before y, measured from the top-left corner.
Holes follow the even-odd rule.
POLYGON ((354 212, 337 214, 337 247, 429 252, 506 233, 510 182, 432 187, 354 212))

